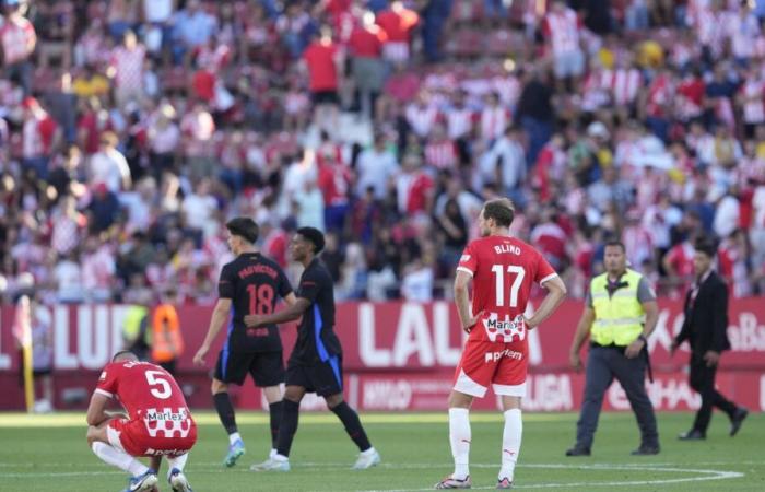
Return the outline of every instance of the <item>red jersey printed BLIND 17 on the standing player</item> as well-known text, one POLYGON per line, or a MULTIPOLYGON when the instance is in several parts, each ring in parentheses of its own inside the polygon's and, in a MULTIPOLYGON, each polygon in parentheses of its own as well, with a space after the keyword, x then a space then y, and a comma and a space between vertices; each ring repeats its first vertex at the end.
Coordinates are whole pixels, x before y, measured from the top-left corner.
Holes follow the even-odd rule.
POLYGON ((515 237, 487 236, 464 248, 457 270, 473 277, 473 314, 483 312, 470 340, 526 345, 523 313, 533 282, 557 274, 542 254, 515 237))

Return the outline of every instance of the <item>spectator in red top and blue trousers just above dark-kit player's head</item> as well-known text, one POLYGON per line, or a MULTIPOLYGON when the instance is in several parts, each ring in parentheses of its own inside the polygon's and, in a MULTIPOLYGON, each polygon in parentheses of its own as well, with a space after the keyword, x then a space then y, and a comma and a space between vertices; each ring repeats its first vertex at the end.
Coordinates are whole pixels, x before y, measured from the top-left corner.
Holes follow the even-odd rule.
POLYGON ((345 230, 345 216, 349 212, 351 172, 339 157, 337 152, 331 151, 321 155, 321 159, 317 155, 318 185, 323 195, 325 227, 327 232, 340 234, 345 230))

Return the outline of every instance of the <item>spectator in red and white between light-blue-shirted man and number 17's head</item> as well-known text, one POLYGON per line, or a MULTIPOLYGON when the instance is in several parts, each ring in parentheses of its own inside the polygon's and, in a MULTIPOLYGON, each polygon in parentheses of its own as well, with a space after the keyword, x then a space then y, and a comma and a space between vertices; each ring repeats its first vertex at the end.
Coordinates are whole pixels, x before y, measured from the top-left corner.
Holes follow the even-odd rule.
POLYGON ((401 172, 396 176, 396 192, 399 212, 416 216, 433 210, 435 183, 422 166, 422 157, 405 154, 401 160, 401 172))

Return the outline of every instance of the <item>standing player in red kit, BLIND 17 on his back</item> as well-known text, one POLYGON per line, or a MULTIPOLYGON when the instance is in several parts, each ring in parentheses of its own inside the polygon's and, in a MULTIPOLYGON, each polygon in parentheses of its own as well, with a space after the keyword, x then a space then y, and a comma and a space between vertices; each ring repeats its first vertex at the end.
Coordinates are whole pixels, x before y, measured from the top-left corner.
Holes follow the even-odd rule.
POLYGON ((470 333, 449 395, 449 441, 455 471, 436 489, 470 489, 470 420, 473 398, 492 387, 502 398, 505 429, 497 489, 513 488, 522 422, 520 400, 526 396, 529 341, 527 330, 539 326, 566 295, 566 286, 542 255, 510 237, 515 210, 507 199, 484 204, 479 216, 481 238, 462 254, 455 279, 455 302, 462 329, 470 333), (473 306, 468 286, 473 282, 473 306), (526 304, 533 283, 548 290, 537 313, 527 318, 526 304))

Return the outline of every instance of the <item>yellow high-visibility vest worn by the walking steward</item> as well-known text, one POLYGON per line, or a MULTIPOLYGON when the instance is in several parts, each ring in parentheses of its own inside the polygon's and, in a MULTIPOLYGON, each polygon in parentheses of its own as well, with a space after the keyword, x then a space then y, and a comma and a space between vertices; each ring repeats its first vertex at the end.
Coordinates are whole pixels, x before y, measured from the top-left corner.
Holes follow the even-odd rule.
POLYGON ((592 279, 590 295, 595 323, 590 340, 600 345, 626 347, 640 336, 646 320, 646 312, 637 300, 637 285, 642 278, 638 272, 627 269, 619 279, 627 285, 616 290, 611 296, 607 289, 608 273, 592 279))

